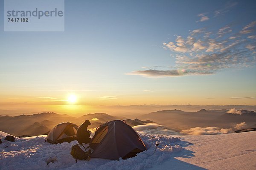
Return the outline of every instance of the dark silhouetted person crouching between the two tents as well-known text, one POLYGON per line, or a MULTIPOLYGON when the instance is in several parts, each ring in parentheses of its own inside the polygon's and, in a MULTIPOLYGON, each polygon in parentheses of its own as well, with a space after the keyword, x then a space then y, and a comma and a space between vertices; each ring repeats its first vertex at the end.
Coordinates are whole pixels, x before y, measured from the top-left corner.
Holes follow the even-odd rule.
POLYGON ((87 130, 89 125, 91 125, 90 121, 85 120, 77 129, 76 137, 79 144, 90 142, 90 130, 87 130))

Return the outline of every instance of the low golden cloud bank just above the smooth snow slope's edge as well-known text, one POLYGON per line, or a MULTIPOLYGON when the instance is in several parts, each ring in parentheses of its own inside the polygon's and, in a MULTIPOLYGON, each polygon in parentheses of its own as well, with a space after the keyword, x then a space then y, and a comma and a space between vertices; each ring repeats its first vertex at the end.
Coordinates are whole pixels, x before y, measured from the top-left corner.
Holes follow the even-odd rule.
POLYGON ((193 127, 186 130, 181 130, 180 133, 186 135, 216 135, 234 133, 232 129, 223 129, 219 127, 193 127))

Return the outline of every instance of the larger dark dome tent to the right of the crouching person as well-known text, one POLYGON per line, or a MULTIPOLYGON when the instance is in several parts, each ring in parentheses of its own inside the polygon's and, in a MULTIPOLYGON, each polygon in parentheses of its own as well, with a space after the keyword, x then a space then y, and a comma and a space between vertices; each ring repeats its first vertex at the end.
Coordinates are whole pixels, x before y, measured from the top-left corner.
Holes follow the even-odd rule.
POLYGON ((89 146, 93 149, 91 158, 112 160, 134 157, 146 150, 136 130, 121 120, 106 122, 97 127, 89 146))

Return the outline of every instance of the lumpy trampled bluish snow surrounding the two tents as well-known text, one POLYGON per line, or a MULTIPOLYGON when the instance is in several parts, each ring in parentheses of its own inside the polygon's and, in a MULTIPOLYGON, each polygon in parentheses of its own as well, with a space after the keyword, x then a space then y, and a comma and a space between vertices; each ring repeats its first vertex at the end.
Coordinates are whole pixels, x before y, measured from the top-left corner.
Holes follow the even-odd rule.
MULTIPOLYGON (((4 138, 2 135, 2 139, 4 138)), ((62 144, 44 142, 46 136, 15 138, 15 142, 3 141, 0 144, 1 170, 146 170, 166 161, 172 152, 183 150, 177 137, 166 135, 140 134, 148 150, 137 154, 134 158, 119 161, 107 159, 78 160, 70 155, 71 147, 77 141, 62 144), (153 154, 156 142, 159 142, 153 154), (8 147, 6 147, 8 146, 8 147), (47 165, 47 159, 57 157, 57 161, 47 165)), ((181 144, 182 146, 182 144, 181 144)))

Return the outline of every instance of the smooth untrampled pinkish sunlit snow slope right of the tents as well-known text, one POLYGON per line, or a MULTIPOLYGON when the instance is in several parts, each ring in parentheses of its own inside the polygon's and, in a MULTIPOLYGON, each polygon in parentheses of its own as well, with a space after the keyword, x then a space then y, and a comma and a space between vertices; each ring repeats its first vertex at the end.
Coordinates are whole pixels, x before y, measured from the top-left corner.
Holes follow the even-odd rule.
POLYGON ((182 136, 181 141, 187 142, 185 150, 152 170, 256 170, 256 131, 182 136))

